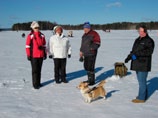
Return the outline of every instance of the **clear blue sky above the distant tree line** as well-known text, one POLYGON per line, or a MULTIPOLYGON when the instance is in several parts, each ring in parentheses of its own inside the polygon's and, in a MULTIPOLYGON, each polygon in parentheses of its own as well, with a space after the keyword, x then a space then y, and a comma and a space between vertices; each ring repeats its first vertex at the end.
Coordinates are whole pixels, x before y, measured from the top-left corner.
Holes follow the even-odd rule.
POLYGON ((71 25, 158 21, 158 0, 1 0, 0 28, 33 20, 71 25))

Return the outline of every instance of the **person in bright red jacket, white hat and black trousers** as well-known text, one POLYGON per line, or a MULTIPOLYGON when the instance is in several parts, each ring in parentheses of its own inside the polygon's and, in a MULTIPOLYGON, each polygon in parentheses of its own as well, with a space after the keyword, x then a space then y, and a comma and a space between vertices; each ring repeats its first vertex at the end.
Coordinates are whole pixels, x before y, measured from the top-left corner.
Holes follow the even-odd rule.
POLYGON ((44 34, 39 31, 39 24, 33 21, 31 24, 31 32, 26 39, 26 55, 31 62, 32 67, 32 84, 35 89, 41 87, 41 69, 43 59, 46 55, 46 40, 44 34))

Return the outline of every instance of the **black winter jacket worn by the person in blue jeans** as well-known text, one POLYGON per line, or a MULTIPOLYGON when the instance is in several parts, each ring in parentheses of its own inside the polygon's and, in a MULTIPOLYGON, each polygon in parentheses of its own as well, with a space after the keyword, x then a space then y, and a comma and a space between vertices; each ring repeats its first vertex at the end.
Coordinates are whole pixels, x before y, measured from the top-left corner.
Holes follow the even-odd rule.
POLYGON ((136 55, 136 60, 131 61, 131 70, 142 72, 151 71, 154 46, 154 40, 148 34, 143 38, 138 37, 135 40, 130 55, 136 55))

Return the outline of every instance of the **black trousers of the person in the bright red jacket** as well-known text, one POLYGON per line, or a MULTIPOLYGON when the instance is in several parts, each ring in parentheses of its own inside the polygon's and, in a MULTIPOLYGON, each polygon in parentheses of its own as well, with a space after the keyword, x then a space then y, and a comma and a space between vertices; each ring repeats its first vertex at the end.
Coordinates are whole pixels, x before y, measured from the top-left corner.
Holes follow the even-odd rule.
POLYGON ((41 83, 41 70, 42 70, 43 58, 32 58, 32 85, 34 88, 39 88, 41 83))

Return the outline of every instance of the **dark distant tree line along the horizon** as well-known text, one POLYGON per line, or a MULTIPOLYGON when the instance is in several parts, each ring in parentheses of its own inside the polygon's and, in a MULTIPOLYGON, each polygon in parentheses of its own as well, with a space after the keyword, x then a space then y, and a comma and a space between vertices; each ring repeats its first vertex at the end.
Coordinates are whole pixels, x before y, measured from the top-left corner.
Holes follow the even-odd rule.
MULTIPOLYGON (((38 21, 41 30, 52 30, 54 26, 60 25, 56 22, 49 22, 49 21, 38 21)), ((17 23, 12 26, 12 30, 30 30, 30 24, 28 23, 17 23)), ((149 30, 156 30, 158 29, 158 22, 140 22, 140 23, 133 23, 133 22, 116 22, 111 24, 92 24, 92 28, 95 30, 130 30, 130 29, 137 29, 139 25, 146 25, 149 30)), ((65 30, 81 30, 83 29, 83 24, 79 25, 61 25, 65 30)))

